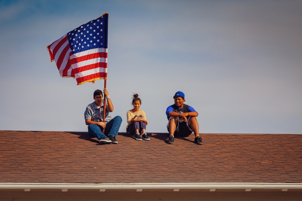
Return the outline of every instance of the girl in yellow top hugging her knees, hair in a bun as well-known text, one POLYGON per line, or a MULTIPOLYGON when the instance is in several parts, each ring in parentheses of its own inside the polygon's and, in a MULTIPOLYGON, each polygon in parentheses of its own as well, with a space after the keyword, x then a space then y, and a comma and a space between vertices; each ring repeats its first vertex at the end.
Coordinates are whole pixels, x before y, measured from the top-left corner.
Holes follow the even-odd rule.
POLYGON ((150 140, 146 134, 146 125, 148 121, 146 119, 146 113, 143 110, 140 110, 140 105, 142 101, 138 97, 138 94, 133 94, 132 105, 133 109, 127 112, 127 123, 126 132, 134 136, 136 140, 150 140), (140 137, 140 135, 142 137, 140 137))

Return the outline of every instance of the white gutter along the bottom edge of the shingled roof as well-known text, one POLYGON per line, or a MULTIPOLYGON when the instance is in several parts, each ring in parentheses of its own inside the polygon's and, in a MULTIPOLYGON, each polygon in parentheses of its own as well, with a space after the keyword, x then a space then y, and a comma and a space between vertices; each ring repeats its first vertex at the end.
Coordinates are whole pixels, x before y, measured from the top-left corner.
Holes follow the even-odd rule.
POLYGON ((216 189, 302 189, 302 183, 0 183, 0 189, 97 189, 105 190, 131 190, 142 191, 143 189, 171 189, 179 191, 180 189, 207 189, 215 191, 216 189))

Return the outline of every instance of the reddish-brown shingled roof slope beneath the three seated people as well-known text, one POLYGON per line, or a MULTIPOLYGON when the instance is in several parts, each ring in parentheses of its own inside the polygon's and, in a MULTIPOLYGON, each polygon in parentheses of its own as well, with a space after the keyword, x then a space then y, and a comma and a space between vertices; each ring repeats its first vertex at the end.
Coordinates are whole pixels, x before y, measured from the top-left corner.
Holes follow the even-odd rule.
POLYGON ((0 131, 0 183, 302 182, 302 135, 200 135, 98 145, 87 132, 0 131))

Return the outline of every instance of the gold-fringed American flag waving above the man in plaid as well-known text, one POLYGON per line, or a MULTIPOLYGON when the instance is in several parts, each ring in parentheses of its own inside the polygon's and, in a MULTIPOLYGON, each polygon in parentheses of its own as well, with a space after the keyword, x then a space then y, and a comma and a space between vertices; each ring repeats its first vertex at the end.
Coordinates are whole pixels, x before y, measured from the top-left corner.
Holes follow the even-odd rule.
POLYGON ((77 85, 107 79, 108 13, 89 21, 47 46, 62 77, 77 85))

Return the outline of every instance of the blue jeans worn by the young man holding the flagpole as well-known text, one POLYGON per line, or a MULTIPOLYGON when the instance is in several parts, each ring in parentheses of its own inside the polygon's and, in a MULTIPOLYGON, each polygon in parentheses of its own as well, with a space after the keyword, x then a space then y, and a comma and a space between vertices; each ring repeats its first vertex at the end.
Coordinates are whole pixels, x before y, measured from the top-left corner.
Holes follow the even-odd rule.
POLYGON ((89 135, 95 136, 98 140, 103 139, 107 136, 117 136, 118 130, 120 129, 120 124, 122 123, 122 117, 115 116, 106 124, 104 133, 103 128, 96 124, 90 124, 88 126, 89 135))

